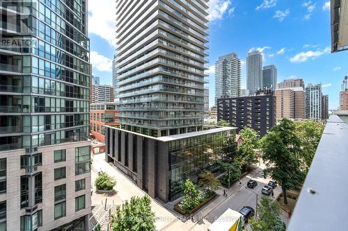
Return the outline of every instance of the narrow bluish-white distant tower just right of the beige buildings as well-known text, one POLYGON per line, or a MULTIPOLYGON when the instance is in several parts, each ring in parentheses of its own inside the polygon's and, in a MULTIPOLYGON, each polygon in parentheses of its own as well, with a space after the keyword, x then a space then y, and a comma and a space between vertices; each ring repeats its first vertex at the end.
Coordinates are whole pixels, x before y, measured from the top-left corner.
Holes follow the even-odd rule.
POLYGON ((306 87, 306 119, 322 119, 322 85, 308 84, 306 87))

